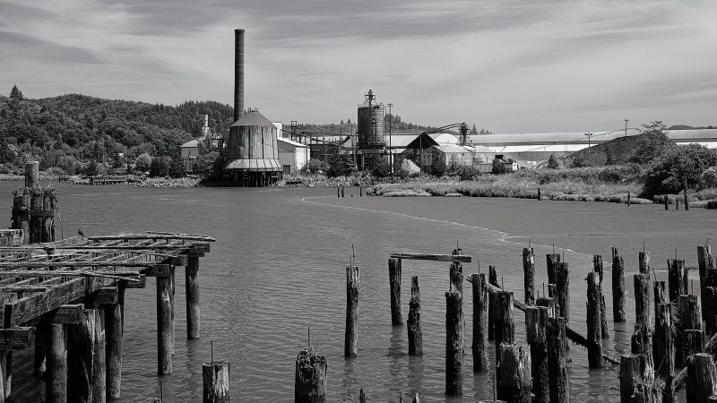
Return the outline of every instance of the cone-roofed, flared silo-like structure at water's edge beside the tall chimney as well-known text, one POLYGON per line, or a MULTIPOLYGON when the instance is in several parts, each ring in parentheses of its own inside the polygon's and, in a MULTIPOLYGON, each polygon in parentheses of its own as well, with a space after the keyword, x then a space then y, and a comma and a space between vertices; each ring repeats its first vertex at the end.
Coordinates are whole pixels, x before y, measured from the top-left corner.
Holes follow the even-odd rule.
POLYGON ((229 163, 224 171, 234 186, 270 186, 283 171, 277 130, 257 110, 249 110, 229 128, 229 163))

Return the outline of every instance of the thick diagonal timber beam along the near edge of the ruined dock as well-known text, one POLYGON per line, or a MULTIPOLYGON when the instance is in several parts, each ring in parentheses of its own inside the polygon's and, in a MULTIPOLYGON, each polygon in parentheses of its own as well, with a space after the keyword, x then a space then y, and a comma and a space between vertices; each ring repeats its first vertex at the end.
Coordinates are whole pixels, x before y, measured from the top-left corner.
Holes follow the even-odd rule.
POLYGON ((105 287, 108 281, 108 279, 89 277, 71 279, 49 288, 44 293, 25 296, 7 303, 4 306, 4 328, 13 328, 30 322, 42 314, 105 287))

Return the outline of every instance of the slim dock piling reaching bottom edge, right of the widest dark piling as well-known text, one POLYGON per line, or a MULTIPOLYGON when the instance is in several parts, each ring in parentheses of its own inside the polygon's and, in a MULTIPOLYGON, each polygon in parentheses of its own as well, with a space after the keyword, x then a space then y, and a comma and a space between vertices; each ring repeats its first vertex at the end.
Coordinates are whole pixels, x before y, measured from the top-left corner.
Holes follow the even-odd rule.
POLYGON ((107 334, 107 399, 119 399, 122 390, 122 339, 124 337, 125 281, 117 284, 117 304, 105 306, 107 334))

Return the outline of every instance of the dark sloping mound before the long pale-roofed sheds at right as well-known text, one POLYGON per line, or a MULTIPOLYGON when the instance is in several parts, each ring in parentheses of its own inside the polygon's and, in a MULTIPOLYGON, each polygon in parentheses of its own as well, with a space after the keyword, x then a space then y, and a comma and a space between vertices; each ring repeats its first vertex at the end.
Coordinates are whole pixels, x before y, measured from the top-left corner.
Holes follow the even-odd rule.
POLYGON ((618 137, 594 147, 575 151, 563 157, 565 167, 602 167, 626 163, 650 162, 665 150, 676 148, 677 144, 664 133, 648 131, 629 137, 618 137))

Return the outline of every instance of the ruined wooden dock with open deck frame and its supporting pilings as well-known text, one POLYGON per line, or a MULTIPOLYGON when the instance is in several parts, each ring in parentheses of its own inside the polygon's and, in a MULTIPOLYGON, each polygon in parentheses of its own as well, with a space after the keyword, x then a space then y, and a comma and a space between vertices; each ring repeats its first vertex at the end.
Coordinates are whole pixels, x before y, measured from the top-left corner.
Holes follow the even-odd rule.
POLYGON ((125 289, 145 287, 147 277, 157 282, 158 374, 171 373, 173 271, 186 267, 187 338, 199 337, 198 258, 211 242, 212 236, 142 233, 0 246, 4 380, 12 375, 12 351, 43 340, 35 361, 46 363, 47 401, 119 398, 125 289))

